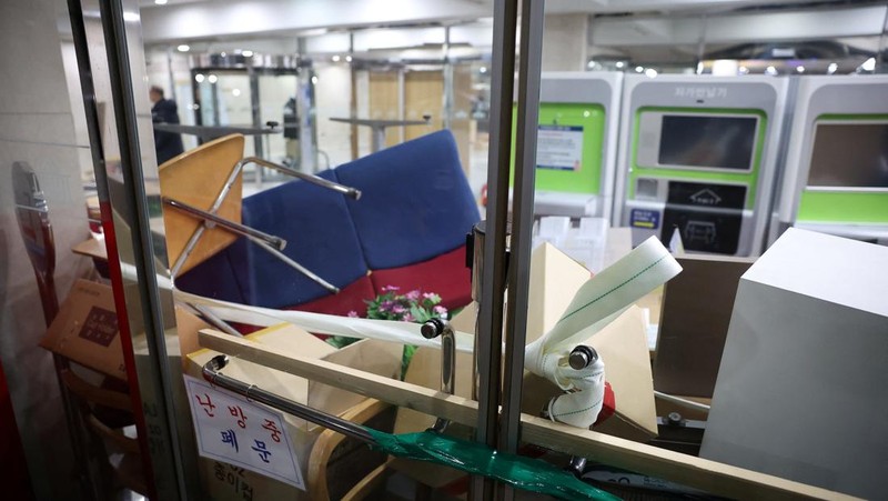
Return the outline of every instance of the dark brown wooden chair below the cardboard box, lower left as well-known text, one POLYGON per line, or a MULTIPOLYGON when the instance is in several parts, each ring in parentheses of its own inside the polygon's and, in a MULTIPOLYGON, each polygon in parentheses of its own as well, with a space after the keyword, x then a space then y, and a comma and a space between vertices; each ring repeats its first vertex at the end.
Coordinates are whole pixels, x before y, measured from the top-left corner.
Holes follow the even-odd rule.
POLYGON ((60 377, 80 411, 90 459, 98 463, 91 470, 101 495, 111 499, 121 487, 148 495, 139 440, 124 431, 133 421, 130 395, 92 384, 70 367, 61 369, 60 377))

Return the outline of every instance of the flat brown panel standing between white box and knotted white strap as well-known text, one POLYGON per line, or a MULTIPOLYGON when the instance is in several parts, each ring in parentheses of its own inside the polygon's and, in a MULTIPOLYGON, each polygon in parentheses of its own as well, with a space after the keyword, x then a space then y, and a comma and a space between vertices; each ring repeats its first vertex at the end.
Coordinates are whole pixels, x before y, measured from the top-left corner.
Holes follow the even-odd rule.
POLYGON ((740 275, 751 258, 678 258, 684 271, 664 288, 654 388, 712 398, 740 275))

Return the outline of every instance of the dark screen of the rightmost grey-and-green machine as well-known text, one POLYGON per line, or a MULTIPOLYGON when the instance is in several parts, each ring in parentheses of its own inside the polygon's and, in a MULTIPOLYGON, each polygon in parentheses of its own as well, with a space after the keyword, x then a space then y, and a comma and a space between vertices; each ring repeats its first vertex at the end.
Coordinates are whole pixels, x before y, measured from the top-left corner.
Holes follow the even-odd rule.
POLYGON ((888 123, 819 123, 810 187, 888 189, 888 123))

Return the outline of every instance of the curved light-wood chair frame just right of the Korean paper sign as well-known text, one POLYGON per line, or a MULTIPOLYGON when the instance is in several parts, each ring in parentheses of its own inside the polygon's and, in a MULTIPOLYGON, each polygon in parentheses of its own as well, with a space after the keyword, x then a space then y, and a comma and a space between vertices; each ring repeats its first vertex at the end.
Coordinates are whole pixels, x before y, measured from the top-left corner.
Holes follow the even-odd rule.
MULTIPOLYGON (((366 399, 343 413, 342 418, 380 429, 393 424, 394 410, 395 408, 385 402, 366 399)), ((309 495, 312 501, 366 499, 383 488, 385 480, 393 473, 387 468, 389 461, 391 459, 384 453, 370 451, 356 440, 325 430, 319 435, 309 457, 309 495), (373 464, 376 464, 375 468, 373 464), (351 480, 367 470, 370 472, 351 488, 347 483, 342 484, 343 480, 351 480), (345 474, 336 474, 336 471, 345 474), (349 479, 344 478, 346 475, 349 479)))

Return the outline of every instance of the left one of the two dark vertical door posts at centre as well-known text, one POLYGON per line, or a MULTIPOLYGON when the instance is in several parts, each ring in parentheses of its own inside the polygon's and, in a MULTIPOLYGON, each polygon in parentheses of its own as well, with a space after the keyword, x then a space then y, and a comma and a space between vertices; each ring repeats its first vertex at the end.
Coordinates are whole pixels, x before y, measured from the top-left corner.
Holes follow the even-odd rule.
MULTIPOLYGON (((491 79, 491 150, 487 161, 487 222, 478 310, 475 363, 478 377, 478 421, 475 440, 497 445, 503 300, 506 288, 506 226, 512 150, 512 96, 515 74, 516 0, 495 0, 491 79)), ((495 483, 474 478, 471 499, 493 498, 495 483)))

